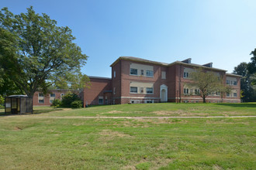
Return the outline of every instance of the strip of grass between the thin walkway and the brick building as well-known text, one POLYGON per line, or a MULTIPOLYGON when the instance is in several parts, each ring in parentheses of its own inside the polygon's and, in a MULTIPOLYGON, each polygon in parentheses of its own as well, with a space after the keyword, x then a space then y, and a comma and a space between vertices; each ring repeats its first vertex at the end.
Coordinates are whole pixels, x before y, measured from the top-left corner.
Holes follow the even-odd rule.
POLYGON ((256 115, 256 103, 246 104, 117 104, 81 109, 34 107, 41 116, 247 116, 256 115), (59 111, 58 111, 59 110, 59 111), (61 111, 60 111, 61 110, 61 111))

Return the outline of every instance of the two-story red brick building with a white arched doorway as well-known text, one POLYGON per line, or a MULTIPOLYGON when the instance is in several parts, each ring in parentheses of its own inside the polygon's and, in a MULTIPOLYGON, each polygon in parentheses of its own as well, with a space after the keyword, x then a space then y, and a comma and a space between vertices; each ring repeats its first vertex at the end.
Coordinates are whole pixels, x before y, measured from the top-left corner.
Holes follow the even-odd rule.
POLYGON ((195 69, 211 71, 231 93, 212 93, 207 102, 240 102, 240 76, 213 68, 213 63, 191 63, 191 59, 161 63, 131 56, 121 56, 111 65, 112 78, 91 76, 91 88, 84 89, 86 104, 127 104, 156 102, 202 102, 199 89, 188 87, 189 74, 195 69))

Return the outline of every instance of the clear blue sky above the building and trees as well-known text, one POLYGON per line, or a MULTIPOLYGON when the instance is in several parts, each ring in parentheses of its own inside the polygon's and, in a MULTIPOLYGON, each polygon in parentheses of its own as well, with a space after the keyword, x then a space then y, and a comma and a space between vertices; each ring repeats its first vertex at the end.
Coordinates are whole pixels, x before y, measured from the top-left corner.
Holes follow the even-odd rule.
POLYGON ((72 29, 88 56, 81 70, 88 76, 111 77, 119 56, 192 58, 232 73, 256 48, 254 0, 0 0, 14 14, 31 5, 72 29))

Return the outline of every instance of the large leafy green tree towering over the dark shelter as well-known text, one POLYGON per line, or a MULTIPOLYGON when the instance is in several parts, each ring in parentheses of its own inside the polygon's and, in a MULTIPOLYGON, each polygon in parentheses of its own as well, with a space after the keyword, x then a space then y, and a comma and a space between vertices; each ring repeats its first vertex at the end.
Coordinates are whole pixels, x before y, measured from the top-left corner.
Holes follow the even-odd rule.
MULTIPOLYGON (((8 8, 0 12, 0 69, 29 97, 40 89, 47 91, 53 77, 81 74, 87 56, 74 43, 67 26, 33 7, 14 15, 8 8)), ((1 78, 1 77, 0 77, 1 78)))

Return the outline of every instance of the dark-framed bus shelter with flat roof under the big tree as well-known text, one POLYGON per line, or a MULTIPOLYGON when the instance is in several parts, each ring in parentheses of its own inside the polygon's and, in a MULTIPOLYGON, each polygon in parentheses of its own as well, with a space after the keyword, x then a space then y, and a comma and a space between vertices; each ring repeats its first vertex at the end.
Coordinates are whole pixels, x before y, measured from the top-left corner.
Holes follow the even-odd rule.
POLYGON ((5 113, 25 114, 33 113, 33 98, 26 95, 12 95, 5 97, 5 113))

